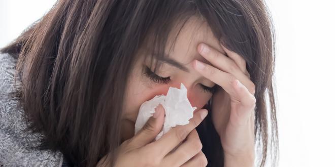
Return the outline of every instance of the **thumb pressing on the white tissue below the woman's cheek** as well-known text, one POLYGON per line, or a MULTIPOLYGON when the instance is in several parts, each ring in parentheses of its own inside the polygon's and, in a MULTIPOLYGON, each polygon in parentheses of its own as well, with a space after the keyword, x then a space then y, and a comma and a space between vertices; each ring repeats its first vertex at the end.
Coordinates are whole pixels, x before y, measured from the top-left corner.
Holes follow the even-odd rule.
POLYGON ((132 138, 131 143, 137 148, 151 143, 162 129, 164 115, 164 108, 159 104, 155 108, 153 116, 148 119, 144 127, 132 138))

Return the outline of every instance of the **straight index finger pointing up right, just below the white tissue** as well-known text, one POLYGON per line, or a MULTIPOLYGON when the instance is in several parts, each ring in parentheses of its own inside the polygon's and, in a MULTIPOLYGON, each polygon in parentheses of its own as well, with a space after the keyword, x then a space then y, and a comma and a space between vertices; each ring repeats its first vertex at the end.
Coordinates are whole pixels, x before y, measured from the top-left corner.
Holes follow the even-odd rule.
POLYGON ((193 118, 189 120, 188 124, 184 126, 176 126, 171 129, 168 133, 164 134, 157 141, 148 145, 148 149, 159 150, 160 156, 164 157, 171 150, 173 150, 179 143, 184 141, 187 135, 195 129, 207 116, 208 111, 206 109, 200 109, 193 114, 193 118))

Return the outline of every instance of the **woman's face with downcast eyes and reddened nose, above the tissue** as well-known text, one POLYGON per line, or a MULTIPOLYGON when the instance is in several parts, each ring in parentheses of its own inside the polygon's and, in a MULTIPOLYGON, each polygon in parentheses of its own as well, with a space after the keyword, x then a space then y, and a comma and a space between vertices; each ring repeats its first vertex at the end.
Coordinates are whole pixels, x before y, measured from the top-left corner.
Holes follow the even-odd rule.
MULTIPOLYGON (((171 39, 175 37, 176 33, 176 30, 172 31, 170 34, 171 39)), ((170 49, 171 39, 169 38, 168 40, 165 53, 170 49)), ((169 62, 162 62, 157 72, 152 73, 153 67, 150 69, 150 60, 148 60, 150 56, 147 56, 148 58, 145 60, 146 55, 139 55, 140 59, 136 62, 128 80, 125 110, 122 113, 122 120, 126 121, 126 123, 123 124, 128 124, 130 127, 133 126, 132 124, 135 123, 139 108, 143 102, 152 99, 156 95, 166 95, 169 87, 180 89, 181 83, 186 87, 187 97, 193 107, 200 109, 206 105, 212 97, 212 93, 204 90, 204 86, 212 88, 215 84, 197 73, 191 65, 191 61, 194 59, 210 64, 197 52, 196 48, 201 42, 224 53, 219 41, 214 37, 207 24, 197 18, 191 18, 179 33, 174 48, 170 50, 170 53, 167 53, 171 60, 182 67, 177 67, 169 62), (170 79, 159 77, 170 77, 170 79)), ((130 129, 127 128, 127 131, 130 129)))

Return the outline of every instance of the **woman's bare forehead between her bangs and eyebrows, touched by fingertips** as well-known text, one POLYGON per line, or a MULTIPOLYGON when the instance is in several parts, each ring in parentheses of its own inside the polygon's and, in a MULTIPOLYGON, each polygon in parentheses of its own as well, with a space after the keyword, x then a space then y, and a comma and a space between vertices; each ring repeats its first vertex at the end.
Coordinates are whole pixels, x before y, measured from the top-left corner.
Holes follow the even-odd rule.
POLYGON ((198 17, 191 17, 181 29, 176 26, 171 31, 165 52, 168 53, 170 58, 183 65, 189 65, 194 59, 211 64, 198 53, 197 46, 200 43, 205 43, 225 54, 208 24, 198 17), (176 36, 177 38, 174 41, 176 36))

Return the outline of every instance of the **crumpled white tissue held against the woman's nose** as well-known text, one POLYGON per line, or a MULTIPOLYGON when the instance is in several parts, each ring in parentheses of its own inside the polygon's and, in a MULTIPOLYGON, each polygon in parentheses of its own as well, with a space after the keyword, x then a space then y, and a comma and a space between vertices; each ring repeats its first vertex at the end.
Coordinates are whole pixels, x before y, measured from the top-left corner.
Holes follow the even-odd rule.
POLYGON ((180 85, 180 89, 170 87, 166 96, 155 96, 141 105, 135 122, 135 134, 143 128, 147 120, 153 115, 153 113, 155 113, 155 108, 159 104, 161 104, 165 109, 165 120, 163 129, 157 135, 155 140, 158 140, 172 127, 188 124, 189 119, 193 117, 193 111, 196 109, 196 107, 192 107, 191 103, 188 101, 187 89, 183 84, 180 85))

